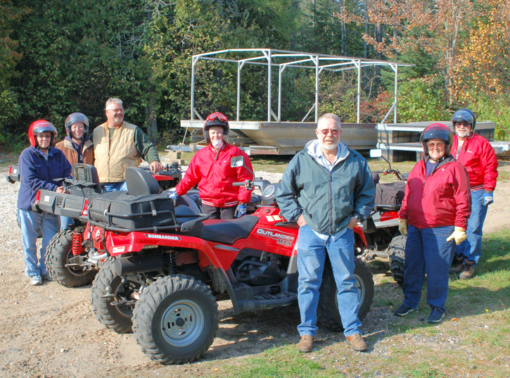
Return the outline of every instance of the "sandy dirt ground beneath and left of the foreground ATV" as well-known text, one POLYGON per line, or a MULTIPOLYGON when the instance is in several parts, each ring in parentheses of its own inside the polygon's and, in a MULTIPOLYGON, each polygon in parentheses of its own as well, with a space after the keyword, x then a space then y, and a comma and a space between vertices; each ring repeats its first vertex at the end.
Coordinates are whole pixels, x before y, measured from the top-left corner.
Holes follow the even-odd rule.
MULTIPOLYGON (((510 169, 510 168, 509 168, 510 169)), ((299 322, 295 306, 234 316, 229 301, 219 303, 220 328, 214 344, 197 363, 165 367, 153 363, 131 334, 116 334, 94 317, 90 286, 68 289, 56 283, 30 286, 23 273, 23 249, 15 222, 19 184, 8 184, 0 169, 0 377, 204 377, 222 360, 243 358, 281 344, 294 344, 299 322)), ((499 182, 485 232, 510 226, 510 183, 499 182)), ((375 272, 380 282, 386 272, 375 272)), ((379 294, 381 295, 381 294, 379 294)), ((376 287, 376 296, 378 289, 376 287)), ((385 328, 388 309, 374 308, 364 333, 385 328)), ((323 339, 343 336, 323 332, 323 339)), ((374 346, 370 358, 384 353, 374 346)))

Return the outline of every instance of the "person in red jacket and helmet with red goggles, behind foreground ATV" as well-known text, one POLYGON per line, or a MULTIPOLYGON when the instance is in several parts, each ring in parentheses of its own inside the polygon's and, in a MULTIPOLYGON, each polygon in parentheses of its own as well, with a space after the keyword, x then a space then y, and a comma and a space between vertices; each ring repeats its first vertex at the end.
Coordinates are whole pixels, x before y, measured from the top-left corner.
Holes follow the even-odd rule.
POLYGON ((253 168, 246 153, 227 143, 229 130, 229 120, 222 113, 209 115, 203 125, 208 146, 193 156, 186 175, 170 194, 171 199, 176 199, 198 184, 202 212, 209 214, 210 219, 241 218, 246 214, 246 204, 251 201, 250 191, 232 185, 253 179, 246 168, 231 168, 232 157, 243 156, 246 167, 252 171, 253 168))

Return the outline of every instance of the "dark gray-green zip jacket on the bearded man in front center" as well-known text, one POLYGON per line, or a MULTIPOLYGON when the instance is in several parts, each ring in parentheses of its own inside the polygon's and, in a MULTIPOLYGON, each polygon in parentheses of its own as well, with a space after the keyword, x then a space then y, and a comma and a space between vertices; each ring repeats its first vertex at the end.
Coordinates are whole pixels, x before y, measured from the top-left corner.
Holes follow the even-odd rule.
POLYGON ((315 155, 318 141, 297 153, 288 164, 276 191, 281 214, 295 222, 302 214, 316 232, 334 235, 347 227, 354 213, 369 216, 375 187, 368 163, 348 149, 331 172, 315 155))

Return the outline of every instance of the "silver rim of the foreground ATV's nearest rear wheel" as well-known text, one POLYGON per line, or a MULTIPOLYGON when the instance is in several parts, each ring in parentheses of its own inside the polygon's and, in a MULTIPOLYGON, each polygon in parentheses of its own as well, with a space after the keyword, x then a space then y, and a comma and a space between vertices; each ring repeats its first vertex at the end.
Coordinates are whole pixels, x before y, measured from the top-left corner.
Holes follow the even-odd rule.
POLYGON ((161 317, 161 332, 168 344, 184 347, 192 344, 205 325, 205 317, 199 305, 182 300, 172 303, 161 317))

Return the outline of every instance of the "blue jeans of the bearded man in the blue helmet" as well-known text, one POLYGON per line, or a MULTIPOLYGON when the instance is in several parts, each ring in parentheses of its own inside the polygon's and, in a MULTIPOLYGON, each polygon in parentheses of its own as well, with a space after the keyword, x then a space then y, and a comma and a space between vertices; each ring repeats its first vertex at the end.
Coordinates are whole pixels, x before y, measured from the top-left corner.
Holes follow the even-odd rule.
POLYGON ((483 206, 484 192, 483 189, 471 191, 471 216, 466 230, 468 239, 457 246, 457 257, 469 260, 473 266, 476 266, 482 254, 482 228, 488 207, 483 206))

